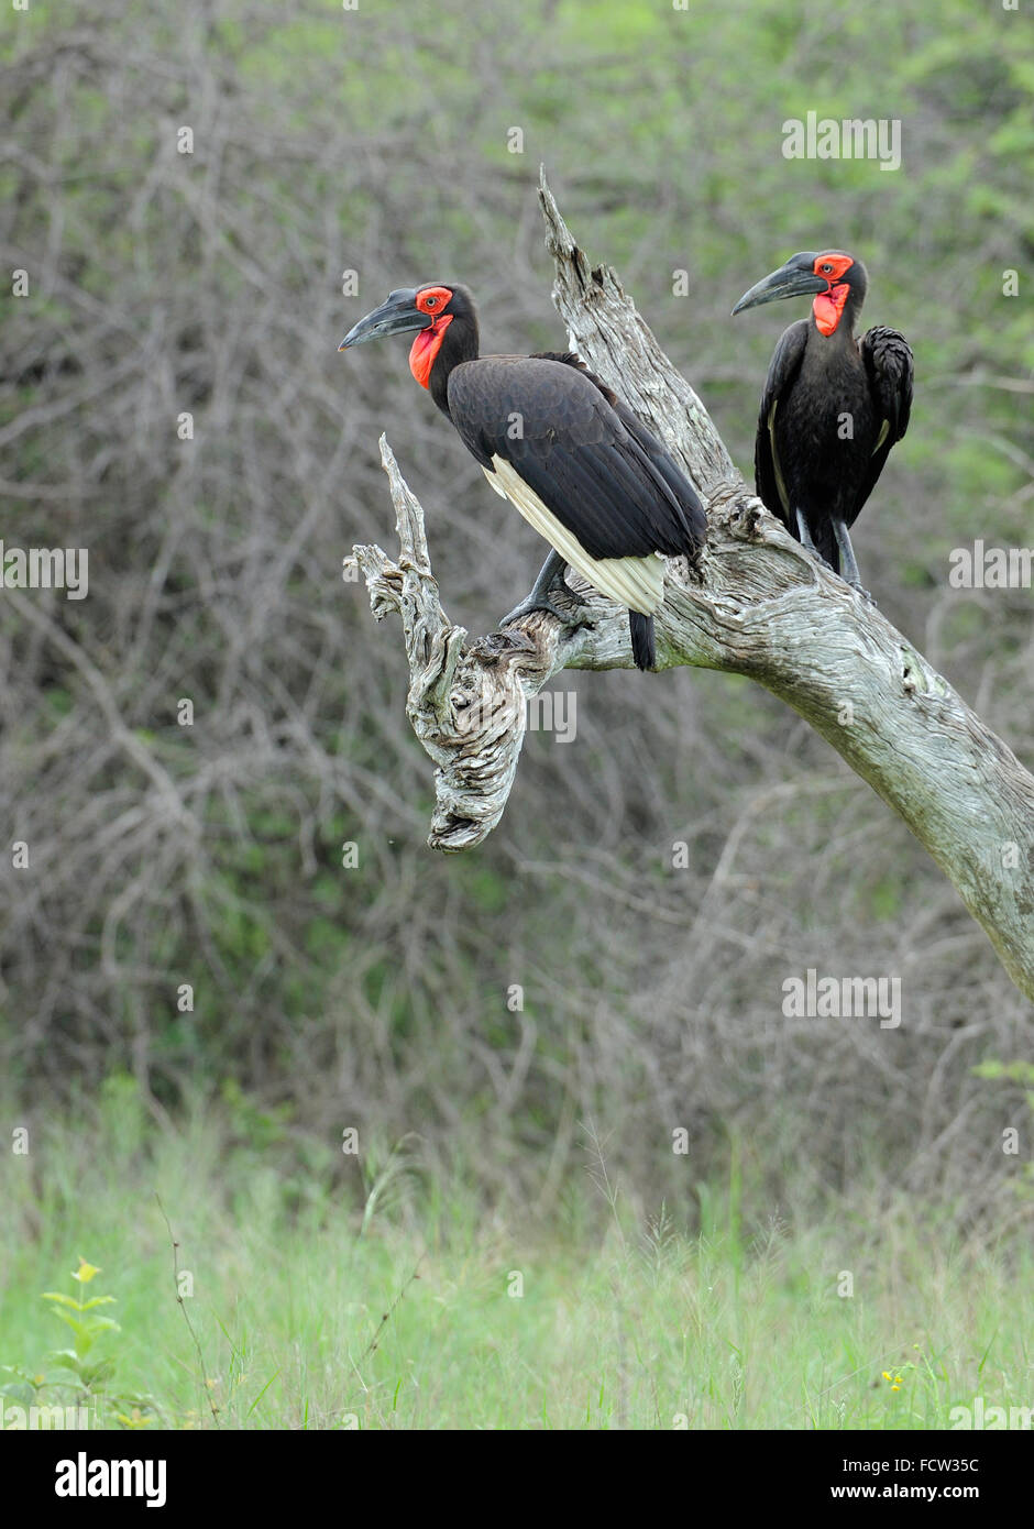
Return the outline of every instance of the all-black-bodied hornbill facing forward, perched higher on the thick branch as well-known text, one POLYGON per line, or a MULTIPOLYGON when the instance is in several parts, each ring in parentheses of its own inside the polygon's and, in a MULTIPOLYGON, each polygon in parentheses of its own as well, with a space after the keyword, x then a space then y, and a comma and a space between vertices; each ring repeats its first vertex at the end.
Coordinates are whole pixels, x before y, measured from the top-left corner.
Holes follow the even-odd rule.
POLYGON ((815 294, 811 318, 785 330, 765 379, 754 446, 757 497, 812 552, 861 589, 849 528, 895 440, 909 428, 912 350, 896 329, 855 318, 866 268, 840 249, 792 255, 753 286, 733 313, 815 294))

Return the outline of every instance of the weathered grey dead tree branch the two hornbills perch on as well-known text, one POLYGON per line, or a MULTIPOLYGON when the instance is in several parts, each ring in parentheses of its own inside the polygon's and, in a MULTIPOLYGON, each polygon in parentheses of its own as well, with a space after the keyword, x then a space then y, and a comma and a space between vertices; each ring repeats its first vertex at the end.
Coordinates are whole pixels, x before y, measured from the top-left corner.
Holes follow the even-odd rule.
MULTIPOLYGON (((798 711, 904 818, 1034 998, 1034 778, 873 605, 765 511, 615 272, 590 268, 575 245, 545 176, 540 199, 572 349, 661 434, 707 503, 699 572, 668 560, 658 668, 748 674, 798 711)), ((428 842, 463 850, 505 810, 526 697, 563 668, 632 667, 627 618, 589 592, 592 625, 567 630, 535 613, 467 642, 441 607, 424 515, 384 437, 381 457, 401 557, 355 547, 355 558, 378 619, 402 615, 407 711, 437 764, 428 842)), ((511 596, 500 590, 500 607, 511 596)))

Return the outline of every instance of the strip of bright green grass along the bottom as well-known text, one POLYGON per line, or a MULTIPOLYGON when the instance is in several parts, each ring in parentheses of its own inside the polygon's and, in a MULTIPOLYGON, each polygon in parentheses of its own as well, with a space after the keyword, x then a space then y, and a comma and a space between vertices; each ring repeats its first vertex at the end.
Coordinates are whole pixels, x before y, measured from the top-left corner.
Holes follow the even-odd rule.
POLYGON ((734 1179, 682 1208, 688 1234, 612 1177, 601 1193, 587 1156, 560 1220, 519 1229, 401 1156, 367 1165, 364 1205, 318 1147, 242 1141, 213 1110, 159 1128, 119 1083, 89 1124, 41 1125, 6 1157, 0 1364, 54 1373, 69 1338, 41 1292, 115 1297, 119 1330, 92 1353, 112 1361, 101 1425, 136 1405, 144 1427, 213 1428, 214 1405, 266 1430, 924 1430, 974 1396, 1034 1401, 1029 1255, 906 1200, 751 1226, 734 1179), (80 1255, 101 1266, 86 1286, 80 1255))

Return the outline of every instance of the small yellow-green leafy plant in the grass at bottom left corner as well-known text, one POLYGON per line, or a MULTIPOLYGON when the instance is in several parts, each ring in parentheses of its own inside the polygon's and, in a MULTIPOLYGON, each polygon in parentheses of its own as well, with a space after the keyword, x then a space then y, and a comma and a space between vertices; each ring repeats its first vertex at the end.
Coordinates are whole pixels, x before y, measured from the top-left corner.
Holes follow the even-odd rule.
MULTIPOLYGON (((49 1368, 43 1372, 2 1365, 0 1373, 11 1379, 0 1385, 0 1398, 8 1396, 20 1407, 41 1408, 50 1419, 55 1408, 64 1407, 86 1411, 92 1427, 118 1422, 124 1428, 144 1428, 153 1417, 150 1398, 112 1390, 116 1356, 98 1352, 98 1346, 122 1330, 115 1318, 99 1310, 113 1306, 115 1297, 86 1294, 84 1287, 98 1274, 101 1269, 80 1254, 80 1266, 72 1271, 72 1278, 81 1295, 43 1292, 41 1300, 50 1301, 54 1315, 72 1329, 72 1347, 52 1350, 46 1356, 49 1368)), ((47 1420, 46 1427, 54 1427, 54 1422, 47 1420)))

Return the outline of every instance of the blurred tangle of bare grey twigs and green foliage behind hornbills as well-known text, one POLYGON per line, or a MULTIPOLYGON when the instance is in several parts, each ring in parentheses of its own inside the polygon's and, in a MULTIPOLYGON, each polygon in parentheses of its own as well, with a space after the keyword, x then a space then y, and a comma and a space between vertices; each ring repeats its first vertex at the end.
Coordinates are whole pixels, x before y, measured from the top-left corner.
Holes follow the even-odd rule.
POLYGON ((491 630, 543 547, 402 341, 337 344, 390 287, 462 280, 485 349, 561 349, 545 162, 749 472, 803 306, 730 309, 797 249, 857 252, 866 320, 916 355, 910 434, 857 528, 866 584, 1031 763, 1031 592, 947 584, 951 547, 1034 540, 1022 24, 964 0, 8 12, 0 246, 31 291, 0 333, 0 531, 90 552, 89 599, 0 598, 21 1113, 130 1075, 159 1119, 200 1096, 278 1151, 324 1142, 346 1177, 344 1127, 407 1138, 428 1174, 543 1214, 592 1121, 627 1193, 681 1220, 731 1154, 759 1208, 875 1179, 1008 1220, 1025 1084, 974 1067, 1029 1057, 1029 1005, 904 826, 763 691, 564 676, 577 740, 529 734, 480 850, 425 849, 402 645, 341 576, 353 541, 393 546, 379 431, 453 619, 491 630), (786 161, 809 110, 899 118, 902 167, 786 161), (785 1018, 808 966, 901 977, 901 1027, 785 1018))

